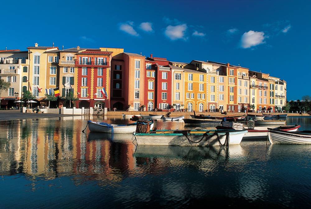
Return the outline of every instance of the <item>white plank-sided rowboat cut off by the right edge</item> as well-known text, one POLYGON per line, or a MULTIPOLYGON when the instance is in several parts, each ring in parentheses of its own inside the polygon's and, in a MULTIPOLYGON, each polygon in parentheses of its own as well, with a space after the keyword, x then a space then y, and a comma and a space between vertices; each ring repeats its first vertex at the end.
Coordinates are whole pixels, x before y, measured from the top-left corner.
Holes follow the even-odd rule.
POLYGON ((284 131, 268 128, 268 139, 271 144, 311 144, 311 131, 284 131))

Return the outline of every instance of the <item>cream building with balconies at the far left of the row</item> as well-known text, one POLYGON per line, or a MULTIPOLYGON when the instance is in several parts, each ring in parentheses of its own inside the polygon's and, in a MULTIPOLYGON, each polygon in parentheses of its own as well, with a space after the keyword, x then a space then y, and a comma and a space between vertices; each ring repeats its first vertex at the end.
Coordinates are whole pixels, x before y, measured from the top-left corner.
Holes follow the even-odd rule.
POLYGON ((16 106, 15 96, 18 100, 21 98, 22 92, 26 91, 27 86, 26 88, 23 86, 27 84, 28 67, 28 51, 19 49, 0 51, 0 79, 11 83, 10 88, 2 92, 2 108, 16 106))

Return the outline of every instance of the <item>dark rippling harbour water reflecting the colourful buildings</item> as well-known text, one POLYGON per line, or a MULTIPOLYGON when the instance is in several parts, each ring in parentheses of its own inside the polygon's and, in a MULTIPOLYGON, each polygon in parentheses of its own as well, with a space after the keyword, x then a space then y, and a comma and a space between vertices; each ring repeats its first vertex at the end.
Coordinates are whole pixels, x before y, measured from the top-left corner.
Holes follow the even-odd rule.
MULTIPOLYGON (((311 207, 309 145, 136 147, 131 134, 82 133, 87 119, 0 122, 1 208, 311 207)), ((287 120, 311 129, 310 117, 287 120)))

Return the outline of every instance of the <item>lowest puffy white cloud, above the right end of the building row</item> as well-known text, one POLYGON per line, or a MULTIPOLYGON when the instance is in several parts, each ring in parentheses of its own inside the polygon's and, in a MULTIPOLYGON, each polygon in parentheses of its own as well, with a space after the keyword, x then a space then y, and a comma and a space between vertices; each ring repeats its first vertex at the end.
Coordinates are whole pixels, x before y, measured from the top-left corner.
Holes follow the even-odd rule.
POLYGON ((263 40, 266 38, 264 32, 248 31, 241 37, 241 47, 246 49, 252 46, 265 43, 263 40))

